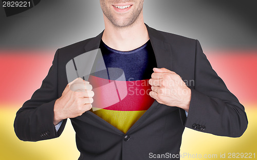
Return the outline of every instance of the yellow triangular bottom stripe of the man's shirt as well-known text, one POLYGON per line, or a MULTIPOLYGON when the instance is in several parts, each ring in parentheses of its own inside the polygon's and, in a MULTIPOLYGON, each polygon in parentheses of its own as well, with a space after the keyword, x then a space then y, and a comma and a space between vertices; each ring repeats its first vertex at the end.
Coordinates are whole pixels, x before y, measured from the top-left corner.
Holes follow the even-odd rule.
MULTIPOLYGON (((96 110, 93 108, 93 110, 96 110)), ((126 133, 136 122, 137 120, 145 113, 144 111, 114 111, 114 110, 106 110, 100 109, 91 112, 95 113, 104 121, 113 125, 123 133, 126 133)))

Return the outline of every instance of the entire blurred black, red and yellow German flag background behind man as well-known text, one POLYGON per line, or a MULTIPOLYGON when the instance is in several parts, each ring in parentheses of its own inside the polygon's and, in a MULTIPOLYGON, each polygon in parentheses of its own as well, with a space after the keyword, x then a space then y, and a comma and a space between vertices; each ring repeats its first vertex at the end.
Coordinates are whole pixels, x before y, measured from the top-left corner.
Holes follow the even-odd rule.
MULTIPOLYGON (((144 2, 144 21, 150 27, 199 40, 248 116, 248 128, 239 138, 186 128, 181 159, 257 159, 255 6, 253 0, 144 2)), ((16 111, 41 86, 55 51, 103 29, 99 1, 42 0, 8 17, 0 7, 0 159, 78 159, 70 121, 59 138, 41 142, 20 141, 13 122, 16 111)))

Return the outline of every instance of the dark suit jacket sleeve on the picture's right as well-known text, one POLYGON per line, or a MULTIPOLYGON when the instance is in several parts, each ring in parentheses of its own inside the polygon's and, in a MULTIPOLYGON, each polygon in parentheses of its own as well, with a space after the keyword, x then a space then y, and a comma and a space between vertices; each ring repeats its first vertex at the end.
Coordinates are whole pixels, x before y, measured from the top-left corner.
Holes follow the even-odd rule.
POLYGON ((244 106, 212 69, 196 40, 194 87, 185 126, 215 135, 240 137, 247 125, 244 106))

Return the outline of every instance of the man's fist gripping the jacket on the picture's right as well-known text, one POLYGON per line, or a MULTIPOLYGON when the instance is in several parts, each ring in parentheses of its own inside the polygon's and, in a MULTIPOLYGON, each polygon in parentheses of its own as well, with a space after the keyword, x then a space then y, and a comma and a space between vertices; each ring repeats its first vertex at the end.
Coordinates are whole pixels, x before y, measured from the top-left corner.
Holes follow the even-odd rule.
POLYGON ((176 106, 188 112, 191 90, 178 74, 166 68, 154 68, 149 84, 152 86, 150 96, 158 103, 176 106))

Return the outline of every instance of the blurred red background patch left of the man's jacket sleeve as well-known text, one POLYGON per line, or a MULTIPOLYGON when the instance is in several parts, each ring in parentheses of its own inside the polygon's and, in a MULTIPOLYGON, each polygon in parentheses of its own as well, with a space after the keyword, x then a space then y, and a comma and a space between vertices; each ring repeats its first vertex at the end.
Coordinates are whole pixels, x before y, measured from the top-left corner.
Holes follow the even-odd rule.
POLYGON ((0 102, 27 101, 41 86, 51 67, 54 52, 0 51, 0 102))

